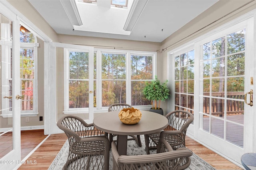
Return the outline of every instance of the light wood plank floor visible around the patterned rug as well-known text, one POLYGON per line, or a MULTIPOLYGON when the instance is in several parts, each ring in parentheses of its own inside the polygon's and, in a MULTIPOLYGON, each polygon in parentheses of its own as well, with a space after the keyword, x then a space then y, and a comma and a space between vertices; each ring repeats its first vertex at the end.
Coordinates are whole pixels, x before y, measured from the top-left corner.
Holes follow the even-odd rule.
MULTIPOLYGON (((25 154, 28 150, 33 150, 34 146, 39 144, 45 137, 43 130, 35 130, 34 132, 29 130, 28 133, 22 132, 22 139, 24 139, 22 142, 26 143, 22 144, 22 154, 25 154), (30 149, 28 149, 29 146, 31 146, 30 149)), ((50 135, 27 159, 31 162, 35 161, 36 164, 22 164, 18 170, 47 170, 66 140, 67 137, 64 133, 50 135)), ((186 146, 217 170, 243 170, 189 137, 186 137, 186 146)))

